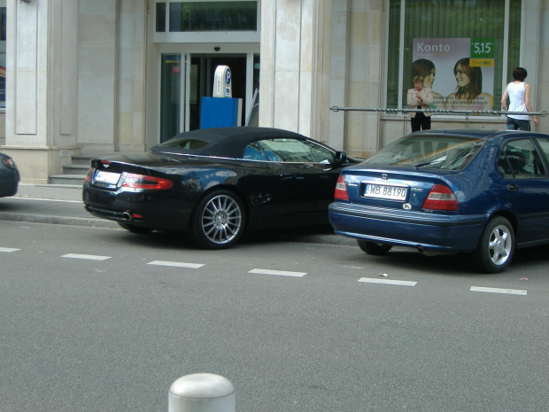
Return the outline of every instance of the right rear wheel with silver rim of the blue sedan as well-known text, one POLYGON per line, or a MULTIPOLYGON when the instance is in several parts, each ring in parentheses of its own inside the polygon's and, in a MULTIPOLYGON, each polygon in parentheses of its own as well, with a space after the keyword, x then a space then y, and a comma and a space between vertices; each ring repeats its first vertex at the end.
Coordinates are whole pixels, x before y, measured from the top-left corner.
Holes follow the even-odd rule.
POLYGON ((505 217, 497 216, 486 224, 473 259, 476 266, 487 273, 505 270, 514 253, 513 226, 505 217))

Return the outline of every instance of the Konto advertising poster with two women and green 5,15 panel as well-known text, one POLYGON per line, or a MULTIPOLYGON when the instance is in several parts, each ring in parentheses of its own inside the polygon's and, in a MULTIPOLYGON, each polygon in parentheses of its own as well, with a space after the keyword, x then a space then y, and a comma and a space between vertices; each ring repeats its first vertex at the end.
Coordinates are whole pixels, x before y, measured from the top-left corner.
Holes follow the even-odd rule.
MULTIPOLYGON (((417 38, 413 41, 413 79, 433 92, 431 108, 489 111, 493 107, 493 40, 417 38)), ((414 85, 410 82, 407 89, 414 85)))

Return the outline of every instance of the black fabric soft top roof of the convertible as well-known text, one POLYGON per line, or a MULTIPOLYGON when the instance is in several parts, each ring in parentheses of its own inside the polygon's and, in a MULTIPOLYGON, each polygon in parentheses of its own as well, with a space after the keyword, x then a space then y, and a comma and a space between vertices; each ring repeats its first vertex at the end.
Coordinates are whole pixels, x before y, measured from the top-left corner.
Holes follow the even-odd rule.
POLYGON ((251 142, 265 138, 293 138, 305 140, 306 137, 298 133, 282 130, 280 128, 202 128, 180 133, 170 140, 157 144, 151 148, 151 152, 178 152, 199 154, 203 156, 219 156, 227 158, 242 158, 244 147, 251 142), (199 140, 206 144, 189 149, 178 146, 177 142, 199 140))

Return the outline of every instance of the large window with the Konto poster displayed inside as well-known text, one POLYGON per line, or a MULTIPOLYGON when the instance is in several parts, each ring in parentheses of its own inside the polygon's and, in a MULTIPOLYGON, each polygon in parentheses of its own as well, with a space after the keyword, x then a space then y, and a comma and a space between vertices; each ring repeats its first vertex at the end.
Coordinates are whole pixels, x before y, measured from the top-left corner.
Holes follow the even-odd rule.
POLYGON ((499 109, 519 66, 521 11, 522 0, 390 0, 387 107, 407 108, 421 76, 433 109, 499 109))

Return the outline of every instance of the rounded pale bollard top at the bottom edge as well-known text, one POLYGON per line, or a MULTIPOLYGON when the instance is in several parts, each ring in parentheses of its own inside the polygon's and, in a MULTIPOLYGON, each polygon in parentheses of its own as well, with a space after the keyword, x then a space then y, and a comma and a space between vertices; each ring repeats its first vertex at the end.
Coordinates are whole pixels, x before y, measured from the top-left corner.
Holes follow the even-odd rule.
POLYGON ((168 394, 168 412, 235 412, 235 387, 226 377, 195 373, 177 379, 168 394))

